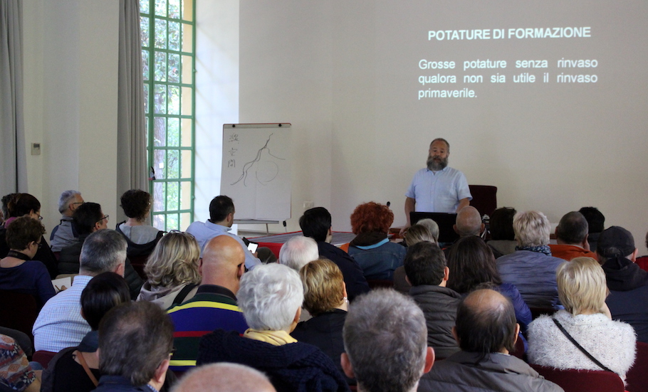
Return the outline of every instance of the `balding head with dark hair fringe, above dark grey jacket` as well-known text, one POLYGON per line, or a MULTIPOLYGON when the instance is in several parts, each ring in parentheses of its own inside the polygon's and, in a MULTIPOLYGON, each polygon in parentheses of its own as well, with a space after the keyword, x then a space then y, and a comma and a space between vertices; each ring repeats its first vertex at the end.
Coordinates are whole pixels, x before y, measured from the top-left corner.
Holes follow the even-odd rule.
POLYGON ((515 349, 520 327, 508 298, 494 290, 475 290, 459 303, 453 331, 462 351, 484 354, 515 349))

